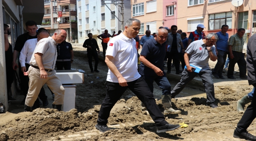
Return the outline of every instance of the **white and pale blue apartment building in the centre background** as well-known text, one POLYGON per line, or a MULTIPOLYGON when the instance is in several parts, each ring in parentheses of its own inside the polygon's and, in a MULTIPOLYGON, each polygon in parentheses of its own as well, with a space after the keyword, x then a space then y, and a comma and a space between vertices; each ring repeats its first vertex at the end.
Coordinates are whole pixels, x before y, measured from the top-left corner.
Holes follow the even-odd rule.
MULTIPOLYGON (((122 30, 119 7, 121 0, 77 0, 77 4, 79 43, 83 43, 88 38, 88 33, 92 33, 100 44, 101 40, 96 36, 104 33, 105 29, 111 35, 113 31, 117 34, 117 31, 122 30)), ((124 2, 124 21, 131 17, 130 12, 130 2, 124 2)))

